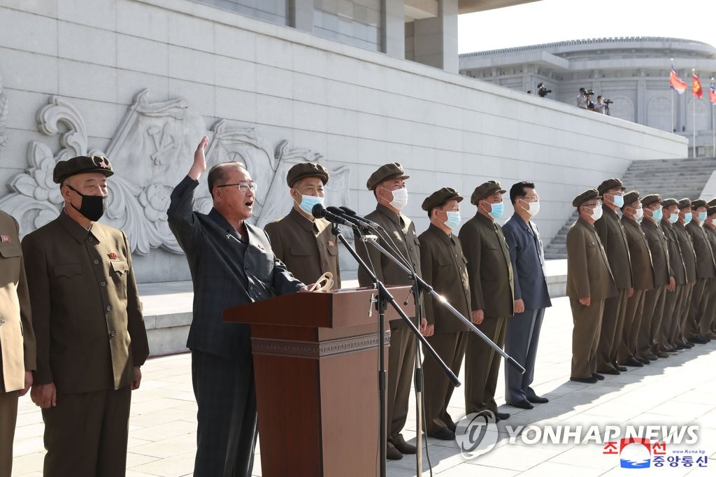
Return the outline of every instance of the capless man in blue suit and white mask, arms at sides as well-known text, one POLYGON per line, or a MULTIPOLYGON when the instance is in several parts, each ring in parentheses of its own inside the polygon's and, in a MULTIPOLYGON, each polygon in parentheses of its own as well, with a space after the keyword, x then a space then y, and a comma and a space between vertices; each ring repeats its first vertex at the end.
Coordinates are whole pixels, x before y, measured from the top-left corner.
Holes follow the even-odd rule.
POLYGON ((510 246, 515 284, 515 314, 507 321, 505 352, 525 368, 521 374, 505 362, 505 401, 516 408, 532 409, 532 403, 547 403, 530 387, 534 379, 539 332, 544 310, 551 307, 544 276, 544 250, 537 226, 531 218, 539 212, 539 196, 531 182, 510 188, 514 215, 502 226, 510 246))

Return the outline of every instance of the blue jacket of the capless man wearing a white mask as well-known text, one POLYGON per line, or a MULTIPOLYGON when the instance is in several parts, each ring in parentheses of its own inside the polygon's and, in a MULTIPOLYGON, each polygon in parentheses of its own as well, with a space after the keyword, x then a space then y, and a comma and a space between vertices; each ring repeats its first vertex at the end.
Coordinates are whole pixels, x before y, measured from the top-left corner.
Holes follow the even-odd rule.
POLYGON ((530 227, 517 213, 505 222, 502 232, 510 246, 510 260, 515 283, 515 299, 525 302, 525 309, 551 307, 547 281, 542 269, 544 251, 537 226, 530 227), (534 234, 534 235, 533 235, 534 234))

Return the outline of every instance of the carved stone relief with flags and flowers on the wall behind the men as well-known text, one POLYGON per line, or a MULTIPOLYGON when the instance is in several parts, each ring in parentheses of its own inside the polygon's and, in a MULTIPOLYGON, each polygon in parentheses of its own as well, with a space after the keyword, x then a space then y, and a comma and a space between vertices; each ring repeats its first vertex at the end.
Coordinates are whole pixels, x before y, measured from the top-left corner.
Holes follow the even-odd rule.
MULTIPOLYGON (((210 138, 206 150, 208 168, 237 160, 246 165, 258 183, 254 216, 250 220, 258 226, 289 212, 291 197, 285 178, 291 165, 323 159, 320 153, 291 148, 286 140, 274 151, 254 127, 231 127, 223 119, 206 131, 203 117, 190 110, 186 100, 150 102, 149 90, 135 95, 106 151, 89 150, 82 115, 60 97, 50 97, 48 104, 37 112, 37 127, 45 135, 59 135, 59 151, 53 153, 41 142, 30 143, 29 168, 10 180, 11 193, 0 198, 0 208, 19 221, 21 235, 52 221, 62 210, 59 187, 52 181, 57 161, 76 155, 105 155, 112 161, 115 175, 109 181, 110 206, 102 222, 125 231, 132 253, 138 255, 147 255, 157 248, 183 253, 169 230, 166 211, 170 194, 189 169, 202 135, 210 138)), ((329 168, 329 171, 327 202, 349 205, 350 169, 329 168)), ((195 209, 202 212, 211 209, 205 176, 195 195, 195 209)), ((349 231, 346 235, 349 236, 349 231)))

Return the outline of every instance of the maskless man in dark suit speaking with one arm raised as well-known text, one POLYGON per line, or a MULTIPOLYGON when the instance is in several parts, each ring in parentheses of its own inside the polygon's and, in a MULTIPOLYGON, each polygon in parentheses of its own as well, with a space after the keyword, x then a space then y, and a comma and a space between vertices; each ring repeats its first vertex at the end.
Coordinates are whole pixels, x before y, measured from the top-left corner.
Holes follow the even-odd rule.
POLYGON ((193 211, 194 189, 206 169, 204 136, 187 176, 171 195, 169 226, 186 254, 194 282, 187 347, 198 405, 195 476, 251 476, 256 446, 256 394, 251 328, 224 323, 223 309, 304 291, 271 251, 266 232, 246 223, 256 183, 241 163, 208 174, 213 208, 193 211))

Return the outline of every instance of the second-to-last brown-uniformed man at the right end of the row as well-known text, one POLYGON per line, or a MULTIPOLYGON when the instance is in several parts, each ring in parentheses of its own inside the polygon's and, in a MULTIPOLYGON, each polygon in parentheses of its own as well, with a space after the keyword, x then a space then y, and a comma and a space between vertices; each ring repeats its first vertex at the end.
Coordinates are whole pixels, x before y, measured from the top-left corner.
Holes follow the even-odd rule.
MULTIPOLYGON (((702 335, 704 317, 710 310, 707 304, 711 297, 712 282, 716 277, 716 262, 714 261, 711 243, 703 228, 706 221, 706 201, 698 199, 691 203, 692 218, 686 225, 686 231, 691 236, 696 252, 696 284, 691 297, 691 307, 684 337, 692 343, 705 344, 710 340, 702 335)), ((710 320, 709 320, 710 321, 710 320)))

